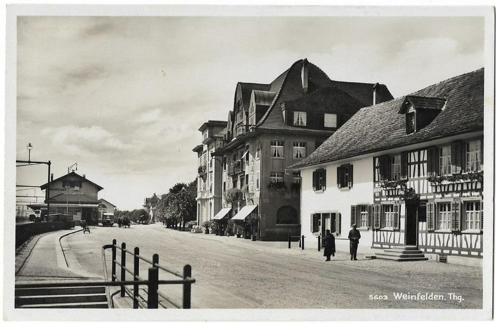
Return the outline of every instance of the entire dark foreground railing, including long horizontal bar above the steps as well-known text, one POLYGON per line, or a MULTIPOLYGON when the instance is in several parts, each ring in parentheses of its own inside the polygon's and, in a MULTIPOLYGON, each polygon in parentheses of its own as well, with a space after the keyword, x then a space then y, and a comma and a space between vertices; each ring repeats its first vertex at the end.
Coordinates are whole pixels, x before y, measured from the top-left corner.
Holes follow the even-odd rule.
POLYGON ((113 308, 112 296, 110 294, 110 286, 121 287, 117 292, 124 297, 125 293, 133 299, 133 308, 137 309, 148 308, 157 309, 158 308, 158 296, 164 298, 167 302, 172 304, 177 308, 190 309, 191 308, 191 284, 196 280, 191 278, 191 266, 186 265, 183 268, 183 273, 179 271, 174 271, 168 269, 165 266, 159 265, 158 255, 154 254, 152 259, 147 259, 139 255, 139 248, 134 248, 134 252, 131 252, 125 248, 125 243, 122 243, 121 247, 117 245, 116 239, 112 241, 111 245, 104 245, 102 247, 102 260, 103 260, 103 270, 104 270, 104 280, 92 280, 92 281, 74 281, 74 282, 51 282, 51 283, 30 283, 30 282, 20 282, 14 285, 15 288, 50 288, 50 287, 91 287, 91 286, 105 286, 105 293, 107 295, 108 307, 113 308), (109 281, 107 260, 105 255, 105 250, 112 249, 112 280, 109 281), (121 261, 116 259, 117 249, 121 250, 121 261), (126 267, 126 254, 133 256, 133 270, 126 267), (143 279, 139 276, 139 261, 144 261, 152 267, 148 268, 148 280, 143 279), (117 266, 121 267, 121 278, 117 277, 116 269, 117 266), (159 279, 158 269, 162 269, 169 272, 181 279, 159 279), (126 272, 132 274, 132 280, 126 280, 126 272), (183 304, 180 305, 177 302, 171 300, 167 295, 158 290, 159 285, 183 285, 183 304), (132 285, 132 293, 127 288, 127 286, 132 285), (139 286, 146 285, 148 287, 148 299, 147 302, 143 302, 139 299, 139 286))

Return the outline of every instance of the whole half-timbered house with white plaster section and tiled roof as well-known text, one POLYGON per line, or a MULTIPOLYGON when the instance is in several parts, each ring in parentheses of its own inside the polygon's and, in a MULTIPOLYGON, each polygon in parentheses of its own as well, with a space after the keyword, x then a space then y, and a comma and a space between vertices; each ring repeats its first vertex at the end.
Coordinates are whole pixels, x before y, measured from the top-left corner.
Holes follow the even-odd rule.
POLYGON ((362 108, 302 175, 302 234, 326 228, 348 250, 417 246, 441 257, 483 256, 484 69, 362 108))

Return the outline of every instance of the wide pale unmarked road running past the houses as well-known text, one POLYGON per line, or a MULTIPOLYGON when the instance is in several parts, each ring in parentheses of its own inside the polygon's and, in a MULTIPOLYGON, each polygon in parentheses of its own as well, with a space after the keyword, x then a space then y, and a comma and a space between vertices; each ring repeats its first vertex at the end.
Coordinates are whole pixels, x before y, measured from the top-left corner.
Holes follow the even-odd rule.
MULTIPOLYGON (((324 262, 316 250, 289 250, 284 242, 179 232, 161 224, 94 227, 91 234, 69 235, 62 239, 69 267, 81 275, 102 276, 101 246, 113 238, 127 248, 139 246, 145 257, 158 253, 160 263, 172 269, 190 264, 196 278, 193 308, 482 308, 480 268, 366 260, 363 255, 351 262, 342 253, 324 262), (445 299, 397 300, 395 292, 445 299), (448 293, 462 295, 463 301, 450 300, 448 293)), ((146 276, 145 270, 140 276, 146 276)), ((167 288, 173 297, 180 296, 178 287, 167 288)))

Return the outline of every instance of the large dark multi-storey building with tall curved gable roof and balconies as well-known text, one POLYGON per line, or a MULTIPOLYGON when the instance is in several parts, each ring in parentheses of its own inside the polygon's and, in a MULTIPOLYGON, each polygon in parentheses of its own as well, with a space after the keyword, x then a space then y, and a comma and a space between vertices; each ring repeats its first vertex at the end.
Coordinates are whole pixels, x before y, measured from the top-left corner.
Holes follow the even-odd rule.
POLYGON ((238 83, 227 126, 210 153, 222 160, 223 199, 216 215, 257 214, 261 240, 299 235, 300 173, 286 168, 310 155, 360 108, 390 99, 384 85, 333 81, 307 59, 271 83, 238 83), (226 194, 236 198, 228 201, 226 194))

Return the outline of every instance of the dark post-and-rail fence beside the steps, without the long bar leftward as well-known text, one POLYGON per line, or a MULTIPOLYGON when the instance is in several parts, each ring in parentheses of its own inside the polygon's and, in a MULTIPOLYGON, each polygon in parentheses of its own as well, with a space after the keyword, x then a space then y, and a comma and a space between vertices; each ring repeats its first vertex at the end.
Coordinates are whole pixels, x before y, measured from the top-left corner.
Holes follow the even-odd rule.
POLYGON ((183 268, 183 272, 175 271, 169 269, 161 264, 159 264, 158 254, 154 254, 152 259, 148 259, 139 254, 139 248, 135 247, 133 251, 126 248, 126 244, 123 242, 121 246, 117 245, 116 239, 112 241, 112 245, 106 245, 104 248, 112 248, 112 283, 117 283, 121 286, 120 295, 124 297, 125 294, 129 295, 133 299, 133 308, 143 308, 144 302, 140 300, 139 297, 139 286, 148 286, 148 296, 146 308, 158 308, 158 297, 162 297, 168 303, 172 304, 177 308, 189 309, 191 308, 191 284, 195 282, 194 278, 191 278, 191 266, 186 265, 183 268), (121 251, 121 261, 117 260, 117 250, 121 251), (132 269, 126 265, 126 255, 132 256, 133 264, 132 269), (151 265, 148 268, 148 280, 143 280, 139 276, 139 263, 140 261, 151 265), (121 268, 120 277, 117 274, 117 266, 121 268), (159 280, 159 269, 175 275, 180 279, 173 280, 159 280), (132 277, 132 280, 126 280, 126 272, 132 277), (163 292, 158 290, 158 286, 161 284, 182 284, 183 285, 183 304, 180 305, 170 297, 165 295, 163 292), (133 285, 133 290, 127 288, 127 285, 133 285))

